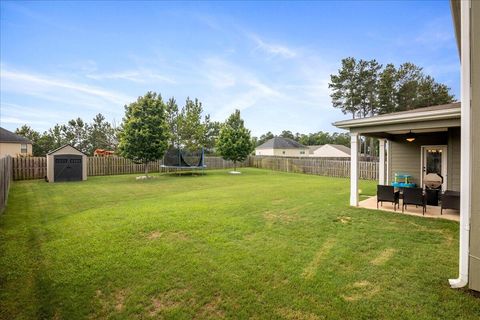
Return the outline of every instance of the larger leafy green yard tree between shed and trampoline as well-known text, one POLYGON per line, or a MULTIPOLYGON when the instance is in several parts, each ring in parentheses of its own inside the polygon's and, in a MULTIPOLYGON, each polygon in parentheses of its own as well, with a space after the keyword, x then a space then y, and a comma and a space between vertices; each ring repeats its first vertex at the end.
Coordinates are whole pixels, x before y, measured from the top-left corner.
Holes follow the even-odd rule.
POLYGON ((155 92, 147 92, 136 102, 125 106, 120 154, 136 163, 145 164, 147 176, 148 163, 161 159, 168 148, 170 134, 165 109, 162 97, 155 92))

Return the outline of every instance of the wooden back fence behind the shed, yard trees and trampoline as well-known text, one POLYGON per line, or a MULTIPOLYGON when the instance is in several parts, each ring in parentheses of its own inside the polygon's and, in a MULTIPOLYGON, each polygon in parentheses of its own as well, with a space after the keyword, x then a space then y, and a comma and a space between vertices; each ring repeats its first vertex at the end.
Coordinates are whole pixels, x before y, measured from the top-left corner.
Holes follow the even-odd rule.
MULTIPOLYGON (((11 158, 12 168, 10 172, 14 180, 43 179, 47 175, 47 159, 44 157, 11 158)), ((151 162, 148 165, 149 172, 168 172, 162 168, 163 161, 151 162)), ((232 161, 225 161, 221 157, 205 157, 206 169, 232 168, 232 161)), ((248 160, 238 163, 237 167, 246 167, 248 160)), ((87 163, 87 175, 107 176, 128 173, 143 173, 145 165, 136 164, 121 157, 89 157, 87 163)))

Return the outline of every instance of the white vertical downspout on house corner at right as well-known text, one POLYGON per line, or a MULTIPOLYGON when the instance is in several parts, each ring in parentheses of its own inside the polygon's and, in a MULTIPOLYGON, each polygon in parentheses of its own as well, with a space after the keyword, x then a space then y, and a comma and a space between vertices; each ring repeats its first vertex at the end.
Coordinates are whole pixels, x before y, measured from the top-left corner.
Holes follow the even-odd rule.
POLYGON ((471 197, 471 76, 470 76, 470 0, 460 2, 461 28, 461 154, 460 154, 460 257, 459 276, 449 279, 452 288, 468 284, 471 197))

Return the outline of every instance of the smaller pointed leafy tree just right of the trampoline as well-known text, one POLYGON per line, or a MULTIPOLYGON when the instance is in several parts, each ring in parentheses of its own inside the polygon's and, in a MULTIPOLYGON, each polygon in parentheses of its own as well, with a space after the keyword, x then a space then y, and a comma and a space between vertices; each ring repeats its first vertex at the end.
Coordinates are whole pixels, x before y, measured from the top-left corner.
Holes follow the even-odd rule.
POLYGON ((233 161, 234 170, 236 170, 237 162, 244 161, 253 149, 250 130, 245 128, 240 110, 235 110, 220 129, 217 151, 223 159, 233 161))

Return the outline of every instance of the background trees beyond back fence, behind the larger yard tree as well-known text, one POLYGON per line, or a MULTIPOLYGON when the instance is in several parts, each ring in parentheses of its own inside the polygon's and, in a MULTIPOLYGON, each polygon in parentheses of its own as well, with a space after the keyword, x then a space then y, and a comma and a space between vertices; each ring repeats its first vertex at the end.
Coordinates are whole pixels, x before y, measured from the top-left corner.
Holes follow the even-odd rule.
MULTIPOLYGON (((139 99, 147 102, 154 99, 154 96, 156 94, 147 93, 146 98, 144 96, 139 99)), ((189 149, 204 147, 207 152, 213 152, 220 132, 220 122, 211 121, 209 114, 202 117, 202 103, 198 99, 187 98, 180 108, 173 97, 167 102, 163 102, 161 97, 158 99, 164 110, 166 126, 170 130, 170 146, 189 149)), ((23 125, 15 133, 32 141, 33 155, 40 157, 65 144, 70 144, 87 155, 93 155, 95 149, 116 151, 123 129, 124 123, 117 126, 99 113, 90 123, 76 118, 65 124, 56 124, 43 133, 23 125)))

